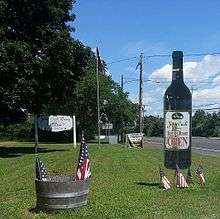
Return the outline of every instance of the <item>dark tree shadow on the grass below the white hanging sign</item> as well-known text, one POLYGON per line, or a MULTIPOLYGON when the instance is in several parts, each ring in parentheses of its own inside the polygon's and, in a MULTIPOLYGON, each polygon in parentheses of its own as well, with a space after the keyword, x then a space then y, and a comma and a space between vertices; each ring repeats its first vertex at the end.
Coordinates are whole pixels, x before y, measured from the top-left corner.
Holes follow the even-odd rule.
MULTIPOLYGON (((38 153, 66 151, 64 149, 38 148, 38 153)), ((24 154, 34 154, 34 147, 0 147, 0 158, 14 158, 24 154)))

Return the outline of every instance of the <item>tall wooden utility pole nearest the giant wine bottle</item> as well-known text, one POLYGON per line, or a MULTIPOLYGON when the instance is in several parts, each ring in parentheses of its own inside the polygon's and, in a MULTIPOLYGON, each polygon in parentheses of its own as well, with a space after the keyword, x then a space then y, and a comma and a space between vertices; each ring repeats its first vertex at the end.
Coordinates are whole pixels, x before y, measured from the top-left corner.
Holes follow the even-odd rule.
POLYGON ((140 55, 140 87, 139 87, 139 131, 143 132, 143 53, 140 55))

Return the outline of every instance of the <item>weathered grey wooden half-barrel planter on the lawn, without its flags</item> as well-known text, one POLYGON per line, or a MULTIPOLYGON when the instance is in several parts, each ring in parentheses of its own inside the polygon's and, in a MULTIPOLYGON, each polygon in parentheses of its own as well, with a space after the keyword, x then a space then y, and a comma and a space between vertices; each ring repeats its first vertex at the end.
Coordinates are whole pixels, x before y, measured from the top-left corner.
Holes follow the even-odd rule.
POLYGON ((87 203, 89 179, 75 180, 73 176, 48 176, 35 180, 37 208, 56 210, 77 208, 87 203))

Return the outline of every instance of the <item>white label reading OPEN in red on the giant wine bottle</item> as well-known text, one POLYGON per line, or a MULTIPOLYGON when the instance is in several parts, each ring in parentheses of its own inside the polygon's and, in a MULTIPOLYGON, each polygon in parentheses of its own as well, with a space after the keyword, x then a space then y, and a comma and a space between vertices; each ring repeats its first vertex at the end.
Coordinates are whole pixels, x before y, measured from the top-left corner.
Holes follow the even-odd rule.
POLYGON ((165 147, 167 149, 187 149, 190 144, 189 112, 165 113, 165 147))

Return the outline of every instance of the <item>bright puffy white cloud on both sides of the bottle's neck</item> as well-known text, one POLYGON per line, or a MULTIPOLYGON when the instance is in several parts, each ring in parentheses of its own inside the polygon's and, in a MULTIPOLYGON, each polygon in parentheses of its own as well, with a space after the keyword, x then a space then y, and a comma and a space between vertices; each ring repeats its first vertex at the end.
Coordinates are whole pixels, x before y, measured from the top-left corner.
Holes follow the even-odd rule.
MULTIPOLYGON (((184 78, 190 82, 202 82, 220 74, 220 56, 206 55, 200 62, 184 62, 184 78)), ((166 64, 150 75, 154 80, 171 80, 172 66, 166 64)))

